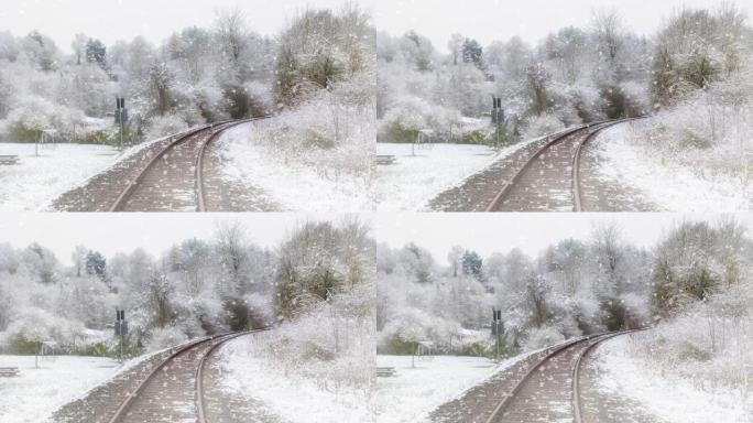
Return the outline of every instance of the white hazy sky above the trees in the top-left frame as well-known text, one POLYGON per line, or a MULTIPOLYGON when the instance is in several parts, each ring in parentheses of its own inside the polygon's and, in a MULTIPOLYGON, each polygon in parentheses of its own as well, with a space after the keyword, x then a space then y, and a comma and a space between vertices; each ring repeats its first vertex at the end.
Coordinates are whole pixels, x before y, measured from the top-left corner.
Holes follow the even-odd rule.
POLYGON ((238 7, 253 31, 274 35, 296 11, 340 4, 340 0, 29 0, 0 8, 0 31, 25 35, 37 30, 65 51, 78 33, 107 45, 138 35, 156 44, 187 26, 211 26, 218 10, 238 7))

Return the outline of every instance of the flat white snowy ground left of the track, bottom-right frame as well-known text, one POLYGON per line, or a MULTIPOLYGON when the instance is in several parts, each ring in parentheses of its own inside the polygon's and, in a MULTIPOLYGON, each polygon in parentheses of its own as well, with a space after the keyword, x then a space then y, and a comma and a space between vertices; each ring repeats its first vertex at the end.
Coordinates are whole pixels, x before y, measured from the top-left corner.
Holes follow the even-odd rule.
POLYGON ((480 357, 376 356, 376 366, 394 367, 395 376, 379 378, 374 394, 374 414, 379 423, 417 423, 447 401, 517 362, 515 359, 496 365, 480 357))

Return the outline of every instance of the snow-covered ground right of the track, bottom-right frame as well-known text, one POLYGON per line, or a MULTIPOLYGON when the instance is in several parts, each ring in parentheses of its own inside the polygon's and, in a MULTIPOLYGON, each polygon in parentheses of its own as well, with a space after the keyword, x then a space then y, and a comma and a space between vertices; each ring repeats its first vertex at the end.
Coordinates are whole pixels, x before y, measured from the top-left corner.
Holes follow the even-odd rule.
POLYGON ((631 357, 626 352, 630 341, 629 337, 611 339, 592 356, 600 373, 599 389, 607 394, 629 395, 668 423, 753 422, 741 392, 703 390, 700 381, 662 371, 631 357))

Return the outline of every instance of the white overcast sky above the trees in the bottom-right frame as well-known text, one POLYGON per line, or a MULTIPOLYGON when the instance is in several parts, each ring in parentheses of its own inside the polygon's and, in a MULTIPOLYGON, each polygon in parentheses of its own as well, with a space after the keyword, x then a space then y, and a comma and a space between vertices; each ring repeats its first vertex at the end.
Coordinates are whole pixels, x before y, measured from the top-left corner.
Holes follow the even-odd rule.
MULTIPOLYGON (((753 235, 753 214, 734 216, 753 235)), ((651 213, 616 214, 401 214, 374 219, 380 242, 400 248, 415 242, 444 262, 452 246, 478 251, 481 256, 520 248, 535 256, 563 239, 587 240, 598 225, 616 223, 624 239, 651 248, 674 225, 685 220, 717 221, 719 215, 651 213)))

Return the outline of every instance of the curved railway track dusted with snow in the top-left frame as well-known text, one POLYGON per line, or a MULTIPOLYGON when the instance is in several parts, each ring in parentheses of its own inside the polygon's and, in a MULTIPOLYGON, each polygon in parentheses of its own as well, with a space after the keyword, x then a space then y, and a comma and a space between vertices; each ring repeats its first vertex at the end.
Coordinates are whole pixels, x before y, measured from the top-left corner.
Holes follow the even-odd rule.
POLYGON ((175 137, 124 186, 108 212, 207 212, 205 162, 225 131, 264 119, 214 123, 175 137))

